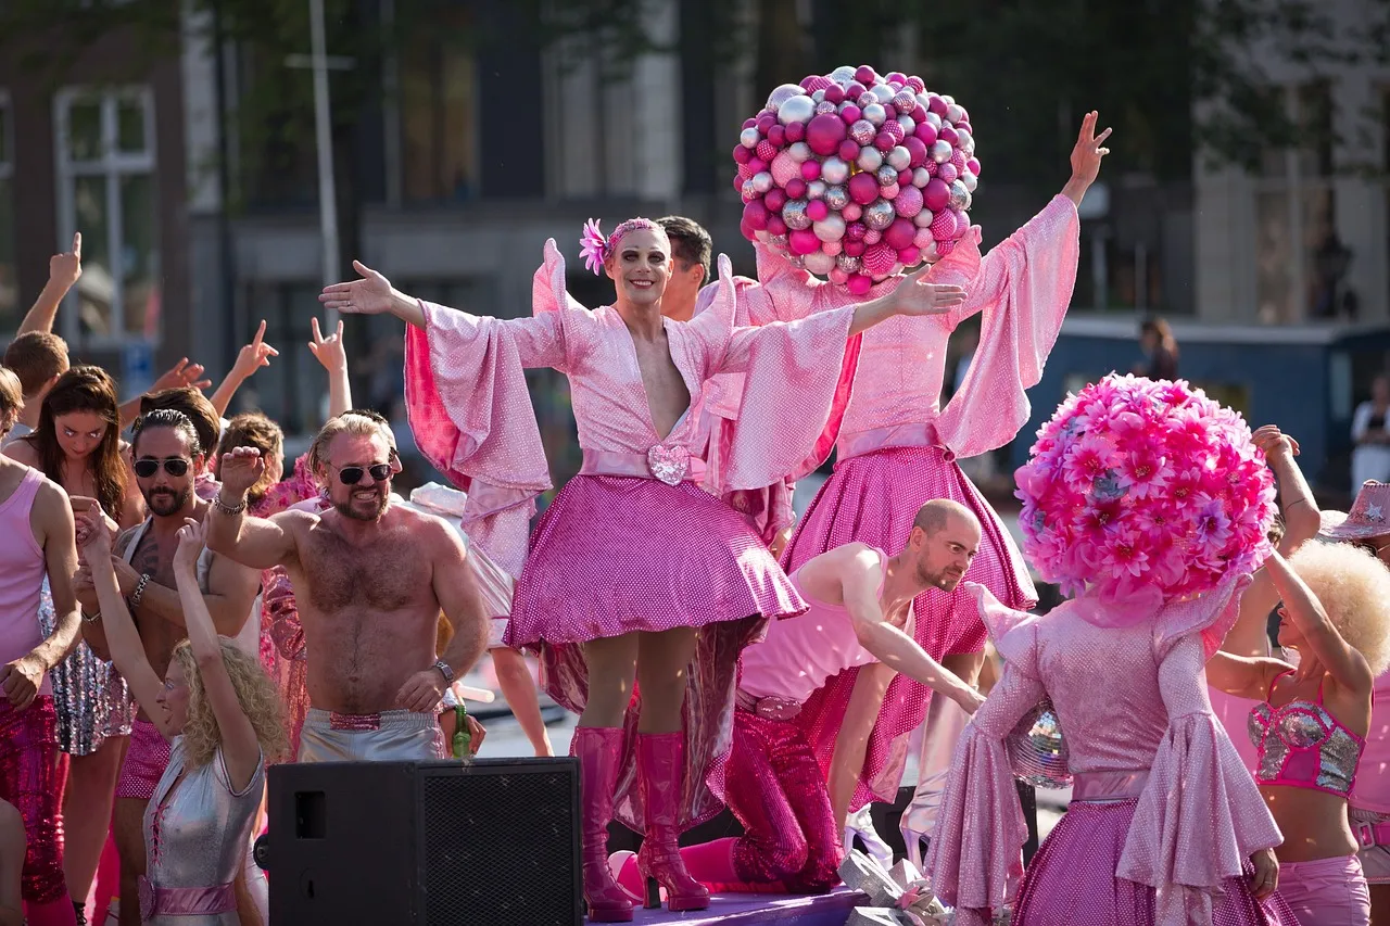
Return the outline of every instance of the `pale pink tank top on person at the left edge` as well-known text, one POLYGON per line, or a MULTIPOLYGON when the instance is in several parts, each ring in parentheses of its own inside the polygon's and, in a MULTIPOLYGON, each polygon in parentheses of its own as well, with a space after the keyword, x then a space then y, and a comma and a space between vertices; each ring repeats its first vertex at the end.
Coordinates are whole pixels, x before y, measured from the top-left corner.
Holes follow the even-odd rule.
MULTIPOLYGON (((42 482, 43 473, 31 469, 10 498, 0 502, 0 665, 28 655, 43 642, 39 596, 47 566, 29 524, 42 482)), ((39 694, 53 694, 47 674, 39 694)))

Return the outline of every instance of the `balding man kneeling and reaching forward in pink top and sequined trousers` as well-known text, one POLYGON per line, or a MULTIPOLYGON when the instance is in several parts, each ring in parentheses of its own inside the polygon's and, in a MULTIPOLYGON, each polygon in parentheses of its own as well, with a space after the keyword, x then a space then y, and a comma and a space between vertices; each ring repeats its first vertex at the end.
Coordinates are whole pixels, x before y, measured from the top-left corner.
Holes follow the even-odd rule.
MULTIPOLYGON (((819 893, 840 883, 841 822, 858 779, 837 770, 862 767, 865 738, 837 741, 827 790, 792 719, 827 680, 859 666, 845 730, 873 726, 887 683, 899 672, 974 713, 984 702, 980 692, 913 640, 912 599, 927 588, 954 591, 979 545, 976 516, 934 499, 917 512, 897 555, 845 544, 791 576, 810 610, 773 622, 767 638, 741 659, 723 797, 745 836, 682 848, 691 876, 714 891, 819 893)), ((610 865, 641 897, 628 855, 616 854, 610 865)))

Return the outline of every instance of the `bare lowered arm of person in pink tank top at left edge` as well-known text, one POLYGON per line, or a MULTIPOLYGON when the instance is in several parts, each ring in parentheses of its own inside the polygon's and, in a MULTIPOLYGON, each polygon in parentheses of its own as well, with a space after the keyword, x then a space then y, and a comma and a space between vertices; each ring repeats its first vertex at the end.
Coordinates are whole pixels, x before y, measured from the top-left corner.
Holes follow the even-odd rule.
POLYGON ((0 690, 19 710, 33 704, 43 684, 43 674, 51 672, 68 655, 81 626, 81 612, 72 585, 78 569, 78 551, 67 494, 44 480, 35 496, 29 523, 43 546, 49 588, 53 592, 54 622, 53 633, 43 642, 7 666, 0 666, 0 690))

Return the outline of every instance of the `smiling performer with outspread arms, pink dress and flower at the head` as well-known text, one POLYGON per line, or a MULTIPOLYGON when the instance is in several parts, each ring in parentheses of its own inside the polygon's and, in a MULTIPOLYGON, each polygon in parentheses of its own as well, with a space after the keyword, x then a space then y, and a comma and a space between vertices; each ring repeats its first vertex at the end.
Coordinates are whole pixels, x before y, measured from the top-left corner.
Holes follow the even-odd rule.
POLYGON ((482 498, 468 492, 475 510, 496 514, 470 530, 478 546, 507 569, 524 556, 506 642, 539 648, 550 697, 582 712, 571 749, 581 762, 585 895, 591 919, 620 922, 632 905, 607 868, 614 812, 645 833, 639 865, 670 908, 709 904, 676 840, 720 806, 706 777, 728 749, 735 656, 766 619, 806 608, 746 521, 698 487, 705 382, 748 374, 744 413, 760 428, 734 441, 724 480, 766 487, 810 455, 851 336, 891 314, 947 311, 963 291, 912 279, 892 296, 801 323, 734 330, 734 284, 720 257, 717 304, 682 324, 660 314, 670 243, 659 225, 631 220, 603 238, 591 224, 585 239, 591 268, 616 284, 612 307, 569 298, 553 242, 531 318, 418 302, 361 264, 364 279, 328 286, 321 300, 410 323, 406 399, 417 444, 460 488, 471 478, 489 487, 482 498), (524 552, 531 501, 549 485, 521 374, 538 366, 570 378, 585 462, 524 552), (635 763, 624 761, 634 738, 635 763))

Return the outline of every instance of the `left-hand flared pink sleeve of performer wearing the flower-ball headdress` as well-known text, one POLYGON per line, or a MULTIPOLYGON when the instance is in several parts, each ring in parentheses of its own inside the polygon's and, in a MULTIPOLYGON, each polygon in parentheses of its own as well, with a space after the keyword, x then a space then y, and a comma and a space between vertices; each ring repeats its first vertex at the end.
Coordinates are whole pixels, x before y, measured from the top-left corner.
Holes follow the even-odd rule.
POLYGON ((1023 820, 1005 738, 1047 695, 1037 677, 1037 627, 1008 633, 1004 674, 956 744, 926 858, 926 873, 959 926, 988 926, 1023 877, 1023 820))

